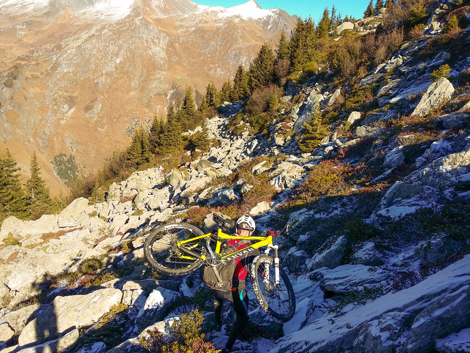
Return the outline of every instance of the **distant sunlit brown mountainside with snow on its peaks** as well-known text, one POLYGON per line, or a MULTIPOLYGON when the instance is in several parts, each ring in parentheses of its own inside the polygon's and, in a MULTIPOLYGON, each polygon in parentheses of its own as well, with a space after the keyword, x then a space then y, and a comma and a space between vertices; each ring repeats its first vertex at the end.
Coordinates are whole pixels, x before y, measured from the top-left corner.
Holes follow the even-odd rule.
POLYGON ((296 22, 252 0, 229 9, 190 0, 2 0, 0 8, 0 144, 25 170, 30 151, 40 151, 53 189, 55 155, 75 155, 88 174, 186 85, 197 100, 210 80, 221 87, 296 22))

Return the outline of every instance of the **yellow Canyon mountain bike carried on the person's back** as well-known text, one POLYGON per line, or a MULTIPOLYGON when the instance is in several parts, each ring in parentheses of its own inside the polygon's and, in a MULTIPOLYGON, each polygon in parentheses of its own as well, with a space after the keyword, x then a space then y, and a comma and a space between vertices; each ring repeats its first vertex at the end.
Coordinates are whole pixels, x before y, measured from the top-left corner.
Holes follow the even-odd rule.
POLYGON ((201 265, 211 266, 219 282, 222 282, 217 266, 243 254, 266 247, 264 255, 254 258, 251 264, 251 284, 261 307, 271 317, 287 322, 295 313, 295 296, 287 274, 279 266, 278 246, 273 238, 289 233, 298 219, 276 233, 265 230, 260 236, 239 237, 223 233, 224 220, 214 217, 217 232, 204 234, 186 223, 173 223, 157 227, 145 242, 145 257, 157 271, 170 276, 191 273, 201 265), (229 254, 223 254, 224 245, 230 239, 250 240, 252 244, 229 254), (273 250, 274 256, 269 256, 273 250))

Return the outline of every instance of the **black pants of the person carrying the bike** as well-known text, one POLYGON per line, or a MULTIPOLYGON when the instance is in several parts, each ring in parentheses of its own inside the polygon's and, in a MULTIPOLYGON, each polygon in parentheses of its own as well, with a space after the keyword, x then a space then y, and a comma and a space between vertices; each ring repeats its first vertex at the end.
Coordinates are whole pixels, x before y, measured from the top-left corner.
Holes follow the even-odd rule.
POLYGON ((246 328, 246 324, 249 320, 248 297, 246 295, 246 289, 237 289, 233 291, 212 290, 212 292, 214 293, 215 297, 215 321, 218 324, 222 323, 222 305, 224 300, 228 300, 230 302, 236 314, 236 320, 232 330, 230 331, 230 334, 228 335, 227 344, 225 345, 225 349, 231 351, 236 339, 243 333, 243 330, 246 328))

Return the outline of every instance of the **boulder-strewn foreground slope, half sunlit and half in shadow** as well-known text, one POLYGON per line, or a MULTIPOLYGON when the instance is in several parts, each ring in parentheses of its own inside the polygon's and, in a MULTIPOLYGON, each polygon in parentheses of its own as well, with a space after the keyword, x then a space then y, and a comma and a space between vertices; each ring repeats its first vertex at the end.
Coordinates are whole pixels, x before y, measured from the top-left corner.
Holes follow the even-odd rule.
MULTIPOLYGON (((302 123, 317 107, 328 110, 345 89, 317 77, 287 86, 282 119, 268 136, 231 133, 243 104, 227 104, 207 122, 220 147, 197 160, 172 171, 133 173, 111 185, 103 203, 82 198, 60 215, 6 219, 0 232, 2 353, 37 352, 45 343, 53 352, 144 352, 147 329, 168 332, 181 313, 196 307, 201 290, 197 273, 153 279, 143 261, 146 234, 194 217, 203 209, 196 205, 230 211, 234 204, 250 206, 259 228, 299 218, 289 237, 277 240, 296 293, 294 318, 283 326, 270 321, 251 295, 251 320, 264 333, 237 342, 238 350, 468 352, 470 88, 455 90, 451 81, 470 68, 470 57, 452 48, 427 61, 411 57, 441 32, 436 21, 443 5, 420 41, 405 43, 362 78, 366 85, 386 75, 374 99, 388 109, 340 112, 342 119, 330 126, 336 131, 311 153, 298 151, 302 123), (431 72, 452 56, 449 80, 432 82, 431 72), (240 171, 245 179, 266 180, 264 188, 276 190, 273 200, 240 203, 256 187, 232 178, 240 171), (322 183, 335 175, 343 178, 341 187, 327 193, 322 183), (317 185, 323 189, 308 207, 290 203, 292 195, 316 192, 317 185), (8 245, 12 238, 18 244, 8 245), (106 321, 109 312, 116 318, 106 321)), ((470 43, 470 27, 462 35, 470 43)), ((204 230, 214 226, 206 213, 198 220, 204 230)), ((225 328, 214 332, 211 314, 206 319, 207 337, 221 348, 225 328)))

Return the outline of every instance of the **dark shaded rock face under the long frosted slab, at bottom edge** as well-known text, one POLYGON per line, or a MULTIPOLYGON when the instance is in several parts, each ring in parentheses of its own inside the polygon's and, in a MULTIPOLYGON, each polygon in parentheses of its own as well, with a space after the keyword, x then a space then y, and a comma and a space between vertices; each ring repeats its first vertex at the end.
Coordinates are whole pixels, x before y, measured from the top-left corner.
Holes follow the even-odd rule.
POLYGON ((395 353, 400 338, 411 326, 415 315, 391 312, 369 321, 353 344, 353 353, 395 353))

